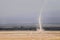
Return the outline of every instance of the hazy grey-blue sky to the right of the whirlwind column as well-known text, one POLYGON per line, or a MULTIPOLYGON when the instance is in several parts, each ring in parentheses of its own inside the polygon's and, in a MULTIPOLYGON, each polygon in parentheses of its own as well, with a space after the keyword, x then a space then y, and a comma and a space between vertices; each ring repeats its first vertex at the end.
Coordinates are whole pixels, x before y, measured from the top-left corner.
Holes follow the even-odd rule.
POLYGON ((60 23, 60 0, 48 0, 42 13, 43 23, 60 23))

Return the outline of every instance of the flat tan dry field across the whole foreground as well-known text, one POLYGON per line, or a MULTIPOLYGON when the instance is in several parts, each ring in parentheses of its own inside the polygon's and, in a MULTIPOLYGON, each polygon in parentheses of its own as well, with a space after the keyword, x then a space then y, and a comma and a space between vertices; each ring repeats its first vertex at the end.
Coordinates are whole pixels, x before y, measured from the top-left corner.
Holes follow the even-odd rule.
POLYGON ((60 31, 0 31, 0 40, 60 40, 60 31))

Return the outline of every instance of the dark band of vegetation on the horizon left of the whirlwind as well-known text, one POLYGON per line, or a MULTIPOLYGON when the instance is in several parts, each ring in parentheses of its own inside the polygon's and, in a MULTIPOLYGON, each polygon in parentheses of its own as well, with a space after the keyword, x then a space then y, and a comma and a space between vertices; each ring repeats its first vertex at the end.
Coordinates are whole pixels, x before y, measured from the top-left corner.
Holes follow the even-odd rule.
POLYGON ((12 28, 0 28, 0 30, 37 30, 37 27, 33 26, 13 26, 12 28))

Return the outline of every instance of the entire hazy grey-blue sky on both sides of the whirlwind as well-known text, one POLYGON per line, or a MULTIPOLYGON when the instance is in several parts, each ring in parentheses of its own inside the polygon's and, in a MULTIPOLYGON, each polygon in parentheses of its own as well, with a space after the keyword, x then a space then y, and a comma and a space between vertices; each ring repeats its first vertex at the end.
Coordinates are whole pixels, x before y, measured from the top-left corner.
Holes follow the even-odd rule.
MULTIPOLYGON (((0 0, 0 24, 38 23, 44 0, 0 0)), ((47 0, 42 23, 60 23, 60 0, 47 0)))

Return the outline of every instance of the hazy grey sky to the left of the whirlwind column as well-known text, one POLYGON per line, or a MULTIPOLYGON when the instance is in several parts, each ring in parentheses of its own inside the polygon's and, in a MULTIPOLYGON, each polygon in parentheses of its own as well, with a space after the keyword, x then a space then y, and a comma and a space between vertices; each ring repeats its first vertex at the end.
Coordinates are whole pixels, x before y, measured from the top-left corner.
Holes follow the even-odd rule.
POLYGON ((0 0, 0 23, 37 23, 42 0, 0 0))

